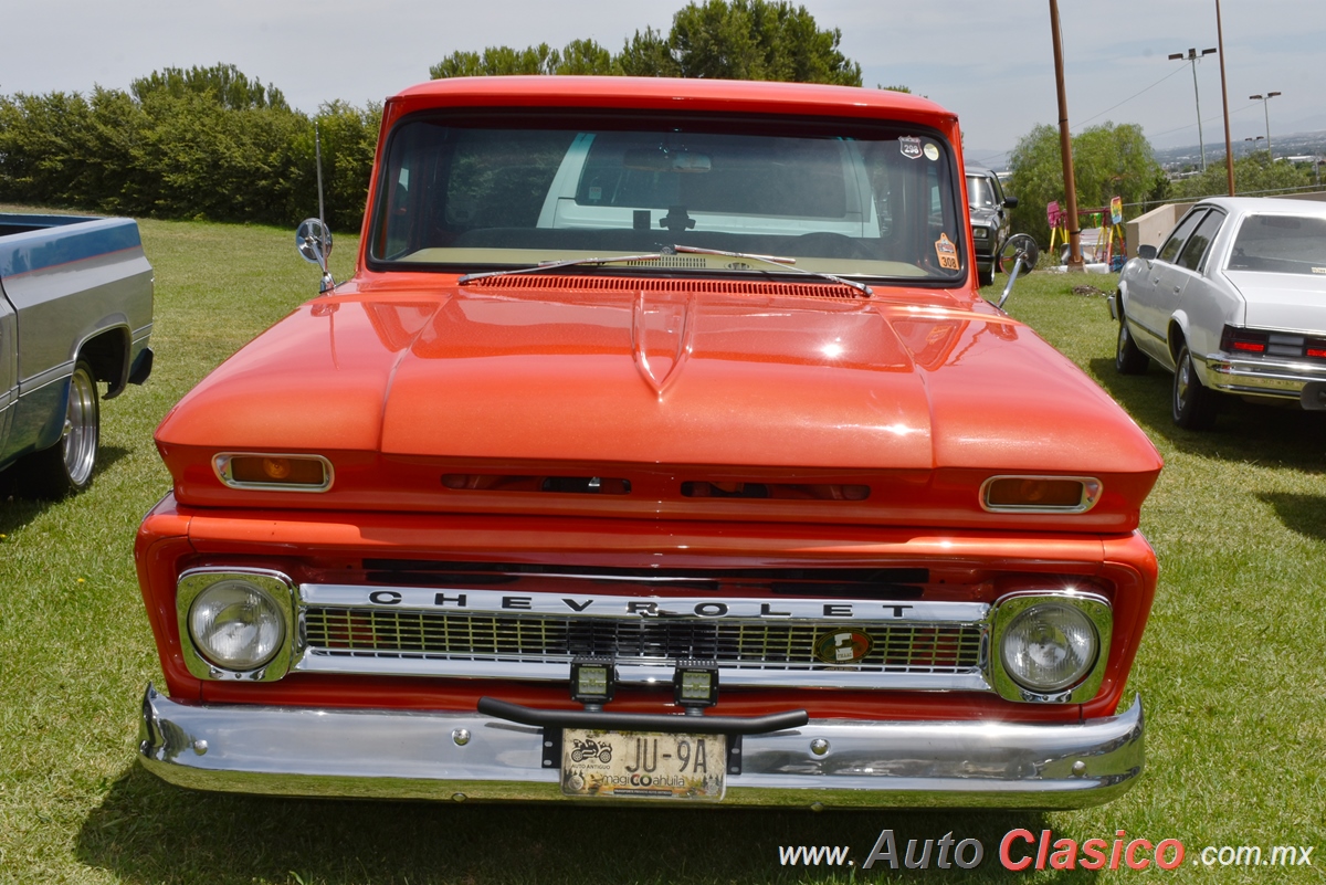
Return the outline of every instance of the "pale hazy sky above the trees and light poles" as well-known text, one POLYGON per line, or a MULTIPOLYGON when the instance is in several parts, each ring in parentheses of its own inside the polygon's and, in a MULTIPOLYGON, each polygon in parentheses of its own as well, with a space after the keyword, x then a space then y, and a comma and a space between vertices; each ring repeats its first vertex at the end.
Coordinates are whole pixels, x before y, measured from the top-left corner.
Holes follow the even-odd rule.
MULTIPOLYGON (((44 0, 5 12, 0 93, 127 87, 159 68, 237 65, 306 111, 382 99, 428 78, 456 49, 593 37, 617 50, 636 29, 666 30, 684 3, 643 0, 44 0), (21 34, 21 37, 20 37, 21 34)), ((957 111, 973 159, 1055 123, 1048 0, 805 0, 842 30, 867 86, 904 83, 957 111)), ((1074 129, 1140 123, 1158 146, 1195 144, 1192 73, 1167 56, 1216 45, 1215 0, 1059 0, 1074 129), (1135 94, 1142 93, 1138 97, 1135 94), (1118 107, 1115 107, 1118 105, 1118 107)), ((1326 0, 1221 0, 1233 138, 1326 130, 1326 0)), ((1203 132, 1223 142, 1220 66, 1197 66, 1203 132)))

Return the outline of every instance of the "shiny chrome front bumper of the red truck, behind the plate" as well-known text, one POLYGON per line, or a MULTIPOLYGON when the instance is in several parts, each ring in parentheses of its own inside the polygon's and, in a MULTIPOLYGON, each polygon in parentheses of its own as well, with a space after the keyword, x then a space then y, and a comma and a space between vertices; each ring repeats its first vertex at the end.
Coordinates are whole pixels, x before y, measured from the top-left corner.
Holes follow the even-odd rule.
MULTIPOLYGON (((743 738, 723 804, 1081 808, 1136 782, 1142 743, 1140 697, 1119 715, 1070 725, 812 719, 743 738)), ((139 755, 196 790, 568 800, 542 729, 477 713, 195 706, 149 686, 139 755)))

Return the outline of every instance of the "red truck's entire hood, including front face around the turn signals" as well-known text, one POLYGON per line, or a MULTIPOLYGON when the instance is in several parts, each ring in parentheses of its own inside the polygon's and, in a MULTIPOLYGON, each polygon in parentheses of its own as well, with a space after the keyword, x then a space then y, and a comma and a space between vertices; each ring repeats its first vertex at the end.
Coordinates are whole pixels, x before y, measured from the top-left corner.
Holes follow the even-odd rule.
POLYGON ((1136 526, 1160 470, 1155 446, 1099 387, 984 302, 517 280, 304 305, 162 423, 176 497, 1116 531, 1136 526), (228 490, 211 468, 227 450, 324 454, 335 485, 293 498, 228 490), (976 489, 1005 472, 1091 476, 1106 492, 1070 523, 983 513, 976 489), (465 492, 477 486, 456 477, 475 474, 517 486, 530 476, 614 477, 633 492, 465 492), (789 494, 819 499, 697 502, 679 490, 697 480, 800 484, 789 494), (835 484, 870 486, 869 501, 843 502, 835 484))

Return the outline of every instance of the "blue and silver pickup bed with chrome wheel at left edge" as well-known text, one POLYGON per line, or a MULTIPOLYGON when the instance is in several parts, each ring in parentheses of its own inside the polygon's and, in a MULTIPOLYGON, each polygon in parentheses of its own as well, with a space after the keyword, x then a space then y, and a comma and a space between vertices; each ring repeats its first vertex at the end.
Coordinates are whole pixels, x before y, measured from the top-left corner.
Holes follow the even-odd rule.
POLYGON ((0 215, 0 470, 60 497, 91 482, 106 399, 152 368, 152 268, 131 219, 0 215))

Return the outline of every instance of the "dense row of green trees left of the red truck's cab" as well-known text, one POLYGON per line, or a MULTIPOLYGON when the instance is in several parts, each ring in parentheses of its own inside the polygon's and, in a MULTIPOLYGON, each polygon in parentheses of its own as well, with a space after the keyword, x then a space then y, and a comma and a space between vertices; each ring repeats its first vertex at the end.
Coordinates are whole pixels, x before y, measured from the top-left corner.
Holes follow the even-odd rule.
MULTIPOLYGON (((357 231, 382 109, 324 105, 328 221, 357 231)), ((313 121, 229 65, 131 91, 0 95, 0 199, 105 213, 293 224, 317 211, 313 121)))

